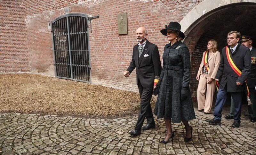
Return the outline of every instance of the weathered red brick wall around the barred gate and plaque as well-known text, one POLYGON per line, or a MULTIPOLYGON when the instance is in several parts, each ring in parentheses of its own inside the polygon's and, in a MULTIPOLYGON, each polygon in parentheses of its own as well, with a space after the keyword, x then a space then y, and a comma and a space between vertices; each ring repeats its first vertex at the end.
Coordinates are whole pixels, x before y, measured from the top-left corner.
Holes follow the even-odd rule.
POLYGON ((92 19, 92 33, 89 34, 92 83, 137 91, 135 71, 129 78, 123 76, 136 44, 136 29, 140 26, 148 29, 148 40, 158 46, 162 56, 168 41, 160 30, 170 21, 180 21, 201 1, 24 0, 23 21, 26 21, 26 31, 21 32, 26 32, 28 46, 25 61, 29 64, 30 72, 54 76, 52 38, 48 23, 66 13, 99 15, 100 18, 92 19), (123 12, 127 12, 128 35, 118 35, 117 32, 117 14, 123 12))

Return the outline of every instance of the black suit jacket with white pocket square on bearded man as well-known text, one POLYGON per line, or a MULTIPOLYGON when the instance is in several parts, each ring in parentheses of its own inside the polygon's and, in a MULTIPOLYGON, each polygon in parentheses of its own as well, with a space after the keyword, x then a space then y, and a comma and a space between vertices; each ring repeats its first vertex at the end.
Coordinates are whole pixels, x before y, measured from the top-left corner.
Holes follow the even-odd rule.
POLYGON ((142 87, 153 87, 155 76, 160 76, 162 70, 159 51, 155 44, 150 43, 147 40, 140 58, 139 44, 133 47, 132 61, 130 66, 127 68, 127 71, 131 74, 135 68, 137 74, 137 85, 140 80, 142 87), (144 57, 145 54, 147 54, 148 57, 144 57))

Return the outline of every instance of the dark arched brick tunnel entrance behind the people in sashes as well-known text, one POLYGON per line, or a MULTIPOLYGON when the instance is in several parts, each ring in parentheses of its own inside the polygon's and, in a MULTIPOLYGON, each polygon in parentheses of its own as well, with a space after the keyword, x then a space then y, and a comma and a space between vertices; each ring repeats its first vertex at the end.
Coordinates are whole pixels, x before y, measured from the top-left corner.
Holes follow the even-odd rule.
POLYGON ((184 43, 188 45, 190 52, 192 51, 190 81, 192 98, 196 99, 198 86, 196 74, 208 40, 215 39, 218 43, 218 50, 221 52, 222 48, 227 46, 228 32, 239 31, 241 35, 250 35, 255 38, 253 46, 256 47, 255 14, 256 3, 229 4, 206 13, 188 27, 185 31, 184 43))

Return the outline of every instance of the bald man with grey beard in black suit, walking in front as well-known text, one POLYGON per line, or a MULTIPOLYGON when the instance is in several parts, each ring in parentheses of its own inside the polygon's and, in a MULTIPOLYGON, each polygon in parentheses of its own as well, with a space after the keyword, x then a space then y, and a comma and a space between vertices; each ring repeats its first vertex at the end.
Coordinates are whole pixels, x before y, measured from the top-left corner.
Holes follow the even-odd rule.
POLYGON ((130 66, 124 72, 124 76, 128 77, 136 68, 137 86, 140 92, 140 112, 138 122, 135 129, 129 132, 130 135, 137 136, 141 134, 141 128, 145 117, 147 125, 142 130, 155 128, 150 100, 153 94, 153 88, 158 82, 161 74, 161 61, 158 48, 155 44, 147 40, 148 34, 144 27, 136 30, 136 40, 139 42, 133 47, 132 61, 130 66))

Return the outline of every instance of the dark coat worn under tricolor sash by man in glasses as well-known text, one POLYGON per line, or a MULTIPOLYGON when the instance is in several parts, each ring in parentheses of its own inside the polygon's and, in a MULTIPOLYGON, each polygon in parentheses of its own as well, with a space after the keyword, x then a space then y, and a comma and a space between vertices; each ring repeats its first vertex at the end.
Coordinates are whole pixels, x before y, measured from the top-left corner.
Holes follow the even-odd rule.
MULTIPOLYGON (((230 48, 230 47, 229 47, 230 48)), ((229 49, 230 52, 230 49, 229 49)), ((228 63, 226 55, 226 47, 222 49, 220 66, 215 79, 220 79, 220 89, 224 89, 227 85, 227 90, 230 92, 244 91, 244 81, 251 72, 251 52, 250 49, 238 44, 232 55, 234 63, 242 71, 241 76, 238 76, 228 63), (236 85, 236 82, 241 82, 242 85, 236 85)))

